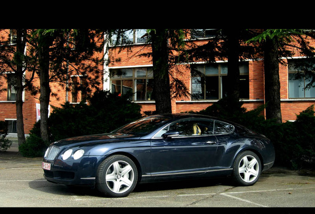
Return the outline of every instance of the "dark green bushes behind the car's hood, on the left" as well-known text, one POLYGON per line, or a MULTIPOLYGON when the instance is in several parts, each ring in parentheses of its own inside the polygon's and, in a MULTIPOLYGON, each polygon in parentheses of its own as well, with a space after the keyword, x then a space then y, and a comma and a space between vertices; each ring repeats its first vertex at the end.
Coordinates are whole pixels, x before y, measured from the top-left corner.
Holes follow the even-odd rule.
POLYGON ((19 147, 25 157, 43 156, 47 146, 54 141, 74 136, 108 133, 141 117, 141 107, 128 101, 128 96, 118 96, 108 91, 97 91, 90 105, 65 103, 54 107, 48 119, 50 142, 40 138, 40 122, 35 123, 26 143, 19 147))

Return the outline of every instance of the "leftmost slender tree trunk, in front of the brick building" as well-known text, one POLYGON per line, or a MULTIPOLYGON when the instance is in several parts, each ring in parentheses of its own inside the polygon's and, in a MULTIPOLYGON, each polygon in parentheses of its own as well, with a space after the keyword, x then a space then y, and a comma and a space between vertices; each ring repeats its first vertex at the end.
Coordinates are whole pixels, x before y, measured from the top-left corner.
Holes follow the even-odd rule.
POLYGON ((24 121, 23 121, 23 62, 24 62, 24 50, 25 50, 25 30, 17 29, 17 39, 16 39, 16 53, 14 56, 16 63, 16 131, 18 145, 21 146, 25 143, 25 133, 24 133, 24 121), (23 39, 22 39, 23 38, 23 39))

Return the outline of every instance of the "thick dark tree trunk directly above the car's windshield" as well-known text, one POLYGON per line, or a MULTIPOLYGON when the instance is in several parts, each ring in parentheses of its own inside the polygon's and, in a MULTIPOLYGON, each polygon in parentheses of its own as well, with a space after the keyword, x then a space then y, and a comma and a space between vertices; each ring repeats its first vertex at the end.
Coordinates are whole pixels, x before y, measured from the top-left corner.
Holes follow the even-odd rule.
POLYGON ((167 30, 157 29, 152 36, 153 78, 157 113, 171 113, 168 74, 167 30))

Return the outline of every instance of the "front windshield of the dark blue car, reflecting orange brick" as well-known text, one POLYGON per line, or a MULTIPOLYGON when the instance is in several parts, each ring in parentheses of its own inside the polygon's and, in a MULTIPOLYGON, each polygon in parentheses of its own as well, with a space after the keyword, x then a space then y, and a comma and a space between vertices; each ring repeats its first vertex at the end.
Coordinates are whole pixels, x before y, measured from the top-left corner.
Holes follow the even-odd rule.
POLYGON ((112 132, 120 134, 147 135, 165 124, 170 119, 170 117, 160 115, 144 117, 112 132))

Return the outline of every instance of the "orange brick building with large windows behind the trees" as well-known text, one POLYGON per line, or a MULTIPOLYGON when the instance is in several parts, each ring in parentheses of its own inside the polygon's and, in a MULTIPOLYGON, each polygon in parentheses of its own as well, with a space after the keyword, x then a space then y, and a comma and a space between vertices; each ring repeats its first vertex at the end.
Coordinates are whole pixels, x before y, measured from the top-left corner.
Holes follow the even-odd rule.
MULTIPOLYGON (((129 38, 133 44, 129 47, 132 48, 132 52, 127 49, 120 51, 119 47, 110 46, 108 50, 105 50, 108 53, 108 57, 120 58, 120 60, 119 62, 113 61, 109 65, 104 66, 105 75, 101 87, 104 90, 121 94, 132 92, 133 96, 130 99, 141 105, 142 111, 154 111, 152 61, 148 57, 138 56, 140 52, 150 51, 150 47, 145 44, 144 34, 144 30, 130 31, 129 38)), ((206 38, 199 38, 198 41, 206 40, 206 38)), ((314 41, 312 41, 312 44, 315 46, 314 41)), ((308 80, 293 78, 295 71, 290 65, 294 64, 297 60, 303 60, 303 57, 296 54, 292 59, 288 59, 288 65, 279 65, 283 121, 295 120, 296 114, 315 104, 315 88, 304 90, 304 86, 308 83, 308 80)), ((181 66, 180 70, 182 73, 180 76, 179 74, 175 75, 178 75, 177 77, 186 84, 191 96, 172 100, 172 112, 199 111, 221 99, 227 88, 226 65, 226 61, 217 61, 215 65, 207 64, 206 62, 199 62, 192 65, 205 74, 202 77, 192 76, 191 70, 187 66, 178 65, 181 66), (205 84, 202 84, 201 80, 205 84)), ((240 96, 244 102, 244 107, 252 110, 264 104, 262 60, 248 59, 240 66, 240 73, 240 96)), ((71 81, 76 81, 76 77, 73 76, 71 81)), ((1 86, 2 89, 7 90, 0 91, 0 120, 8 121, 9 131, 14 133, 16 122, 14 89, 10 87, 10 84, 3 82, 3 79, 1 79, 1 82, 3 83, 1 86)), ((79 94, 76 94, 75 99, 72 99, 71 96, 74 93, 67 93, 57 85, 51 85, 51 88, 52 92, 58 94, 58 100, 51 97, 52 106, 59 107, 66 101, 74 104, 80 102, 79 94)), ((39 95, 31 96, 26 91, 23 99, 25 133, 29 133, 29 130, 36 122, 36 104, 39 103, 39 95)))

